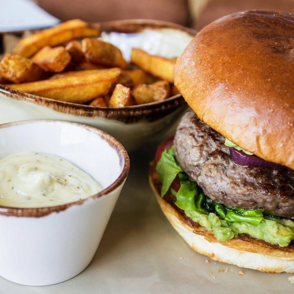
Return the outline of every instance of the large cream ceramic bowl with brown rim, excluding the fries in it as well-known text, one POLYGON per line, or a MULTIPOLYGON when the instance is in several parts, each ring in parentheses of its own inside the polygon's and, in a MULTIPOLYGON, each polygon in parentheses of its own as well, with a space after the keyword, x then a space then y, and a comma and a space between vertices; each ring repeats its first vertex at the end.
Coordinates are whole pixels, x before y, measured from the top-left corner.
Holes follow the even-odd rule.
MULTIPOLYGON (((100 29, 105 41, 121 49, 127 61, 133 47, 167 58, 177 57, 196 33, 162 21, 124 20, 92 25, 100 29)), ((17 38, 13 34, 4 34, 3 40, 4 51, 11 51, 17 38)), ((143 146, 155 136, 163 137, 187 109, 180 94, 161 102, 102 108, 55 101, 5 86, 0 86, 0 105, 0 123, 44 118, 75 121, 111 134, 127 151, 143 146)))

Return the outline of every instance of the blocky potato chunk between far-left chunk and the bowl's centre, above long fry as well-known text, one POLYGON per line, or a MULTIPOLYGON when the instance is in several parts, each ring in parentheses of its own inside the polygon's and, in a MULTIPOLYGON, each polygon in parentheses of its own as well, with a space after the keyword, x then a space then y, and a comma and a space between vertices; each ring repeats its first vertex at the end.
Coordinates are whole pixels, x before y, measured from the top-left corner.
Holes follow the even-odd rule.
POLYGON ((31 60, 44 69, 44 71, 60 72, 69 64, 71 56, 63 46, 54 48, 45 46, 31 60))

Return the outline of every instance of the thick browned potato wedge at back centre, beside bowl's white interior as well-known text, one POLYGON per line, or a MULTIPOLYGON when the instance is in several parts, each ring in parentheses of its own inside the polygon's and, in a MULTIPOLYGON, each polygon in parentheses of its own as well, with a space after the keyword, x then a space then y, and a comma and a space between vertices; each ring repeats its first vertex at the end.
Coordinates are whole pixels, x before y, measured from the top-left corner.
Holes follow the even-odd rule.
POLYGON ((127 69, 128 64, 123 58, 121 50, 110 43, 93 38, 82 40, 82 49, 86 60, 97 65, 121 67, 127 69))

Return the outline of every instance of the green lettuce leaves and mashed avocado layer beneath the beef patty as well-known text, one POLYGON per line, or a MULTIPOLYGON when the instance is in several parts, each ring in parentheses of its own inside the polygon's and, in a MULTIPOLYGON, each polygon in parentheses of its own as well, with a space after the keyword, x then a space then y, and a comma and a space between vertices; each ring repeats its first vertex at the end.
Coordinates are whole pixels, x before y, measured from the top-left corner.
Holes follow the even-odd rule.
POLYGON ((212 231, 221 241, 248 234, 268 243, 288 246, 294 239, 294 222, 268 215, 264 209, 241 209, 216 203, 204 195, 196 182, 182 171, 171 149, 162 153, 156 171, 162 183, 161 196, 170 189, 171 183, 178 175, 181 187, 178 192, 170 189, 176 197, 176 205, 185 211, 186 216, 212 231))

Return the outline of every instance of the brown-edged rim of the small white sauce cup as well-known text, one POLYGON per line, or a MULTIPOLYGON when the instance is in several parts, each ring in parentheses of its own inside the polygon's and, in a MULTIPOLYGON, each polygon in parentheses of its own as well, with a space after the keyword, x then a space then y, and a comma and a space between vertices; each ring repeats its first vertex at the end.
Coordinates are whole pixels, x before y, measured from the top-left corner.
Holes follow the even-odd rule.
POLYGON ((108 146, 110 148, 113 148, 114 151, 116 151, 118 158, 119 158, 119 163, 121 164, 123 162, 123 168, 121 173, 119 174, 118 178, 111 183, 108 187, 100 191, 99 193, 96 193, 92 196, 89 196, 87 198, 62 204, 62 205, 57 205, 57 206, 46 206, 46 207, 37 207, 37 208, 23 208, 23 207, 10 207, 10 206, 1 206, 0 205, 0 216, 17 216, 17 217, 42 217, 49 215, 53 212, 61 212, 66 210, 67 208, 71 206, 76 206, 76 205, 81 205, 86 201, 89 201, 90 199, 95 199, 95 198, 100 198, 102 196, 107 196, 110 192, 114 191, 116 188, 121 186, 123 182, 126 180, 128 176, 128 172, 130 169, 130 158, 129 155, 126 151, 126 149, 123 147, 123 145, 116 140, 113 136, 110 134, 101 131, 98 128, 92 127, 85 125, 83 123, 76 123, 72 121, 62 121, 62 120, 54 120, 54 119, 44 119, 44 120, 28 120, 28 121, 16 121, 16 122, 11 122, 11 123, 4 123, 0 124, 0 129, 3 128, 10 128, 14 126, 19 126, 19 125, 26 125, 30 123, 56 123, 56 124, 67 124, 67 125, 74 125, 78 128, 83 128, 85 131, 90 131, 91 133, 94 133, 95 135, 99 136, 103 141, 106 141, 108 143, 108 146))

